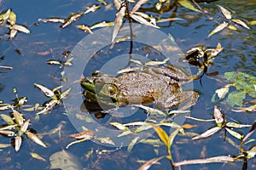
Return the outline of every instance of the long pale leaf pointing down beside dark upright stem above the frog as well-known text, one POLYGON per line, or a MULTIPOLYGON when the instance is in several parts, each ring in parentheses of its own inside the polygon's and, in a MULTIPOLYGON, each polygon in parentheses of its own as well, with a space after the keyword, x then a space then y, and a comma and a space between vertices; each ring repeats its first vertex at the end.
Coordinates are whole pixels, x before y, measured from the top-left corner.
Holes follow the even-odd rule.
POLYGON ((111 42, 113 42, 115 37, 117 37, 118 32, 123 24, 123 19, 125 16, 125 9, 126 9, 125 5, 121 6, 121 8, 119 9, 119 12, 115 16, 114 27, 113 27, 113 36, 112 36, 111 42))

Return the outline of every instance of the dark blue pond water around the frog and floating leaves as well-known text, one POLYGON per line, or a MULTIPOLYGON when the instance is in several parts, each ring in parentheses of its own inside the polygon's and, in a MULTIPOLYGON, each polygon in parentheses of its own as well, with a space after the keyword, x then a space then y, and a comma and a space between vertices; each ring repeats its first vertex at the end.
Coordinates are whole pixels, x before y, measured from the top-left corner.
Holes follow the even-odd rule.
MULTIPOLYGON (((248 25, 251 28, 248 30, 247 28, 234 24, 237 27, 236 31, 225 28, 223 31, 212 35, 212 37, 207 36, 210 31, 218 26, 217 23, 222 23, 224 20, 216 4, 232 11, 232 17, 234 19, 240 19, 249 23, 255 20, 255 1, 246 0, 240 2, 236 0, 220 0, 212 3, 199 3, 201 8, 207 10, 207 14, 198 13, 180 5, 160 14, 152 9, 154 3, 157 3, 157 1, 149 1, 146 5, 143 5, 143 8, 140 10, 147 14, 152 14, 157 19, 170 17, 183 19, 157 23, 157 25, 160 26, 160 31, 164 32, 166 35, 172 35, 177 47, 180 48, 181 51, 185 52, 190 48, 197 47, 199 44, 207 48, 215 48, 218 42, 220 42, 224 48, 208 68, 208 72, 218 71, 218 76, 208 77, 205 75, 202 77, 201 82, 199 80, 193 82, 193 88, 199 91, 201 96, 196 105, 191 108, 190 116, 201 119, 212 119, 214 105, 218 105, 218 108, 224 112, 228 121, 252 125, 253 122, 255 122, 255 112, 248 114, 246 112, 236 113, 231 111, 230 106, 225 102, 212 103, 212 94, 215 93, 216 89, 223 88, 224 85, 228 83, 224 81, 224 73, 227 71, 242 71, 248 75, 256 76, 255 25, 248 25)), ((69 77, 73 77, 75 81, 79 80, 83 73, 84 77, 90 76, 91 71, 95 71, 96 69, 102 69, 102 71, 113 74, 111 71, 117 71, 119 68, 125 67, 129 63, 128 54, 131 52, 130 42, 117 43, 113 49, 109 49, 112 36, 109 33, 105 35, 105 37, 109 39, 109 43, 106 47, 97 49, 99 53, 95 54, 93 57, 84 56, 85 58, 91 58, 90 62, 84 65, 84 67, 79 67, 79 63, 76 60, 73 62, 74 65, 67 69, 63 69, 60 65, 48 65, 46 63, 49 59, 65 62, 68 55, 63 53, 72 51, 72 54, 74 54, 74 48, 78 47, 78 43, 83 40, 84 37, 89 36, 88 33, 80 31, 76 26, 92 26, 97 22, 113 21, 117 10, 114 8, 112 1, 107 0, 106 4, 100 1, 81 0, 1 1, 0 9, 7 10, 8 8, 11 8, 16 14, 17 24, 27 26, 31 33, 25 34, 19 32, 16 37, 9 40, 8 28, 5 26, 0 27, 0 65, 13 68, 10 70, 0 67, 0 99, 3 100, 3 103, 12 104, 12 100, 18 95, 19 97, 27 97, 26 107, 36 104, 43 105, 49 98, 45 97, 38 88, 34 88, 34 83, 42 84, 49 89, 61 86, 61 84, 65 85, 64 88, 68 88, 67 84, 69 82, 61 82, 61 71, 66 71, 63 77, 65 77, 67 71, 69 71, 69 77), (61 28, 60 23, 38 22, 38 19, 50 17, 67 18, 69 14, 83 12, 86 7, 90 7, 94 4, 101 5, 102 7, 95 12, 85 14, 80 17, 79 20, 74 21, 70 26, 65 28, 61 28), (113 58, 113 56, 122 56, 122 54, 124 54, 123 60, 122 58, 113 58), (70 72, 73 71, 73 69, 69 70, 69 68, 76 68, 81 70, 81 72, 76 74, 77 72, 70 72), (17 93, 14 93, 14 88, 17 88, 17 93)), ((113 28, 111 28, 111 31, 113 31, 113 28)), ((98 34, 95 33, 95 35, 98 34)), ((93 37, 93 34, 91 34, 90 37, 93 37)), ((95 38, 96 39, 92 39, 91 42, 94 40, 101 41, 101 37, 95 38)), ((155 38, 157 39, 157 37, 155 38)), ((102 39, 102 42, 104 41, 106 40, 102 39)), ((148 41, 149 40, 145 40, 144 43, 148 41)), ((86 46, 86 44, 84 44, 86 48, 88 48, 89 45, 90 44, 86 46)), ((158 51, 154 51, 153 49, 139 50, 141 47, 142 43, 133 44, 133 59, 141 59, 141 56, 146 55, 148 58, 143 60, 143 62, 148 59, 155 59, 155 56, 158 56, 157 59, 162 59, 162 55, 159 54, 158 51)), ((88 48, 88 50, 90 50, 90 48, 88 48)), ((93 49, 95 52, 97 50, 93 49)), ((83 53, 84 51, 78 54, 83 53)), ((73 56, 72 54, 71 56, 73 56)), ((85 54, 90 53, 85 51, 85 54)), ((82 62, 80 65, 81 64, 82 62)), ((198 70, 197 67, 192 65, 190 65, 190 69, 193 74, 198 70)), ((77 90, 77 94, 73 92, 71 96, 68 96, 70 98, 67 98, 79 98, 78 101, 82 100, 83 96, 79 94, 81 89, 79 88, 77 90)), ((247 96, 247 99, 252 98, 247 96)), ((63 104, 57 105, 49 114, 40 115, 39 119, 36 119, 38 118, 36 117, 36 112, 38 111, 24 111, 20 108, 19 111, 22 112, 26 119, 31 119, 32 129, 40 134, 40 136, 43 136, 42 140, 48 147, 44 148, 35 144, 25 136, 18 152, 15 152, 13 147, 0 149, 0 161, 2 162, 0 169, 49 169, 49 156, 55 152, 66 150, 67 144, 74 140, 69 137, 69 135, 79 133, 78 127, 75 125, 76 122, 71 120, 72 118, 68 114, 71 111, 80 110, 79 107, 82 103, 75 105, 77 108, 73 108, 74 105, 70 106, 68 105, 69 103, 67 104, 65 101, 64 104, 66 104, 65 107, 63 104), (57 130, 54 132, 53 130, 56 128, 57 130), (39 156, 44 157, 45 161, 33 158, 31 153, 37 153, 39 156)), ((129 111, 132 113, 125 114, 132 115, 133 112, 137 111, 133 110, 134 108, 130 108, 129 111)), ((11 112, 11 110, 0 111, 1 114, 6 115, 8 115, 9 112, 11 112)), ((108 129, 113 129, 113 127, 108 124, 108 122, 110 122, 109 120, 111 120, 111 122, 122 121, 122 123, 125 123, 134 122, 138 120, 137 117, 139 117, 139 120, 143 121, 143 119, 147 118, 147 115, 143 112, 143 110, 140 110, 137 114, 132 116, 126 115, 124 118, 119 118, 119 115, 107 115, 103 119, 95 118, 94 121, 99 125, 104 125, 108 129)), ((197 127, 186 130, 186 132, 191 133, 202 133, 208 128, 215 126, 214 122, 197 122, 190 119, 186 119, 184 123, 197 125, 197 127)), ((3 124, 3 120, 1 120, 1 124, 3 124)), ((169 130, 168 128, 165 129, 166 131, 169 130)), ((238 131, 247 134, 249 129, 250 128, 247 127, 239 129, 238 131)), ((108 133, 108 131, 102 131, 101 134, 96 135, 108 136, 106 133, 108 133)), ((154 135, 154 139, 157 139, 157 135, 155 133, 154 135)), ((228 139, 224 141, 224 135, 224 130, 213 134, 210 138, 199 140, 191 140, 192 137, 177 135, 172 145, 173 160, 176 162, 212 156, 239 155, 241 150, 230 144, 228 139)), ((255 136, 255 133, 253 133, 250 139, 255 139, 255 136)), ((227 137, 236 144, 240 144, 238 139, 229 134, 227 134, 227 137)), ((10 144, 11 139, 12 138, 1 136, 0 144, 10 144)), ((12 140, 12 142, 14 141, 12 140)), ((142 165, 142 163, 138 162, 140 160, 148 161, 154 157, 167 155, 164 145, 154 147, 151 144, 139 143, 135 144, 131 152, 128 152, 126 145, 120 147, 120 145, 122 146, 125 142, 129 144, 129 141, 120 141, 119 145, 117 144, 115 147, 110 147, 111 144, 99 144, 99 142, 90 140, 84 143, 73 144, 67 151, 76 156, 74 159, 75 162, 77 162, 77 167, 74 166, 69 169, 137 169, 142 165), (79 164, 81 165, 79 166, 79 164)), ((255 144, 255 141, 246 144, 245 149, 248 150, 253 144, 255 144)), ((181 169, 242 169, 242 165, 243 161, 236 161, 233 163, 186 165, 181 169)), ((247 162, 247 169, 253 169, 255 167, 255 158, 247 162)), ((160 161, 160 164, 153 165, 150 169, 172 169, 172 166, 170 161, 163 159, 160 161)))

